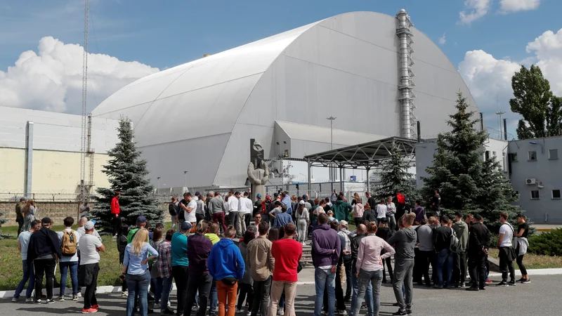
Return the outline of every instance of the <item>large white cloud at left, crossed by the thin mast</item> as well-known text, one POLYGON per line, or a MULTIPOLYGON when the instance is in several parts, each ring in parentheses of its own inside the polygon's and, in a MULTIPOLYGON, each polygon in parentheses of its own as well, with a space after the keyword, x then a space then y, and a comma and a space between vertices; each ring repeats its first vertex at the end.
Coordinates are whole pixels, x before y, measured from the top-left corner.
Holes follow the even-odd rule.
MULTIPOLYGON (((0 70, 0 105, 80 113, 84 48, 53 37, 39 41, 38 52, 21 53, 15 65, 0 70)), ((136 79, 159 70, 110 55, 88 54, 88 111, 136 79)))

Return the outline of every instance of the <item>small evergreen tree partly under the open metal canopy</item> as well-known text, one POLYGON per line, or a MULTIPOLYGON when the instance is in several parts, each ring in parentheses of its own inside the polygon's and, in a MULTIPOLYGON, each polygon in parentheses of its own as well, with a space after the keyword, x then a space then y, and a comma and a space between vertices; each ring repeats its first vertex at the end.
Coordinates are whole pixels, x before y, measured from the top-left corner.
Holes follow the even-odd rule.
POLYGON ((417 199, 417 190, 414 185, 414 175, 408 172, 410 162, 403 159, 400 147, 395 143, 392 144, 389 151, 390 158, 381 163, 381 180, 375 197, 377 200, 386 199, 386 197, 396 195, 396 190, 400 190, 413 203, 417 199))

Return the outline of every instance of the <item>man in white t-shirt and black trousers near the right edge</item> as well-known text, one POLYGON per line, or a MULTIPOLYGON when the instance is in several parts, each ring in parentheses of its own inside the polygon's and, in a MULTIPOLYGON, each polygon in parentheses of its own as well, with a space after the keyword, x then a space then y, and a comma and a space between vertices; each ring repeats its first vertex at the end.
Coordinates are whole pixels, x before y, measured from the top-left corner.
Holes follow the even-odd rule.
POLYGON ((499 227, 499 237, 497 238, 497 248, 499 249, 499 270, 502 270, 502 282, 497 284, 498 287, 515 286, 515 268, 514 259, 511 258, 511 240, 514 238, 514 228, 507 222, 509 214, 502 212, 499 214, 499 221, 502 226, 499 227), (507 282, 507 272, 511 281, 507 282))

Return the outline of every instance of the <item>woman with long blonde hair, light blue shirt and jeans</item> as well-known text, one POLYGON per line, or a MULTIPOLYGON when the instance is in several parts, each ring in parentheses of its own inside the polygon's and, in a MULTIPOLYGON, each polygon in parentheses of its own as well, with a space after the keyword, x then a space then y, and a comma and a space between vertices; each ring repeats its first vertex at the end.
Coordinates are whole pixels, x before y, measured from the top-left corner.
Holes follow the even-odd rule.
POLYGON ((138 308, 141 316, 148 315, 148 285, 150 272, 148 261, 158 258, 158 251, 148 242, 148 230, 141 228, 125 249, 123 274, 126 275, 129 296, 127 297, 127 316, 135 312, 135 296, 138 294, 138 308))

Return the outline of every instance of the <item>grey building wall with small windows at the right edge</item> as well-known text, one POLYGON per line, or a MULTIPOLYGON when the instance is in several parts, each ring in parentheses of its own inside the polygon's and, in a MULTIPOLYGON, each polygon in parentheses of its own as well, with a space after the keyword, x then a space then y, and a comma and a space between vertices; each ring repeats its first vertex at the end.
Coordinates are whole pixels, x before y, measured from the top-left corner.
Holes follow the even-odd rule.
POLYGON ((517 155, 517 161, 510 162, 511 184, 519 193, 516 204, 535 223, 562 223, 562 199, 552 198, 552 190, 562 190, 562 136, 512 140, 508 150, 510 156, 517 155), (558 150, 559 158, 550 159, 549 150, 558 150), (536 152, 537 159, 530 160, 529 152, 536 152), (527 184, 527 179, 536 183, 527 184), (538 199, 532 198, 531 191, 538 191, 538 199))

